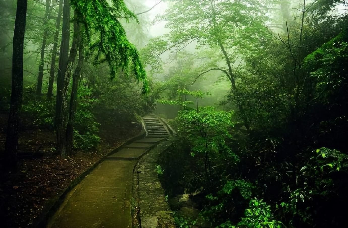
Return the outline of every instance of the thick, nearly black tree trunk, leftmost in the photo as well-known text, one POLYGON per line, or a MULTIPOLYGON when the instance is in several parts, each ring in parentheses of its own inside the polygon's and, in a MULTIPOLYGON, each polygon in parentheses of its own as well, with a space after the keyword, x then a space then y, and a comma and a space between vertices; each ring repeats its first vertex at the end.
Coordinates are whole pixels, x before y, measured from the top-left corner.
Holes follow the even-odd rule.
POLYGON ((7 168, 13 168, 17 163, 19 114, 21 112, 23 93, 23 49, 27 3, 27 0, 17 1, 15 31, 13 34, 11 103, 4 159, 4 164, 7 168))

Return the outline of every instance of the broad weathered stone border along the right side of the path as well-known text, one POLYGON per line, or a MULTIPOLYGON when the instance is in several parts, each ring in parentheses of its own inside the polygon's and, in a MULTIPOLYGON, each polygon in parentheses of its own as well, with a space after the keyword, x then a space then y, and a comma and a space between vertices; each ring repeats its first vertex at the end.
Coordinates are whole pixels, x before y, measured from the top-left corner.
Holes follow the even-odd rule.
MULTIPOLYGON (((163 121, 163 123, 166 122, 163 121)), ((165 199, 164 189, 155 171, 155 165, 157 164, 159 155, 166 151, 172 144, 171 138, 169 137, 169 139, 160 141, 155 147, 151 148, 150 151, 138 160, 134 167, 132 187, 132 198, 135 200, 135 205, 133 205, 135 208, 132 208, 133 228, 175 228, 173 212, 170 210, 169 204, 165 199), (144 166, 145 163, 148 163, 147 168, 144 166), (142 172, 144 172, 144 175, 140 177, 139 173, 142 172), (155 182, 159 184, 146 184, 145 179, 156 180, 155 182), (146 200, 144 198, 141 199, 140 188, 142 190, 145 189, 147 192, 156 191, 156 197, 149 197, 146 200), (151 210, 145 204, 158 204, 161 205, 161 209, 151 210)))

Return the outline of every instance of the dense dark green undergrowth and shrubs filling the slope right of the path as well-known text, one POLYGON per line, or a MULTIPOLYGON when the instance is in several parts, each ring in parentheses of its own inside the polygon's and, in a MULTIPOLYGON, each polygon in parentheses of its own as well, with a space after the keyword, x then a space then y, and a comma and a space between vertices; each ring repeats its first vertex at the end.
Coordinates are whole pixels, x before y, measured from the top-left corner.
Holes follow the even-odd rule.
POLYGON ((200 210, 196 218, 177 217, 178 227, 347 224, 348 30, 338 26, 340 32, 301 50, 294 62, 281 43, 261 51, 272 63, 250 56, 238 72, 240 88, 222 109, 199 107, 199 91, 181 89, 176 100, 164 102, 182 110, 172 121, 173 147, 159 159, 160 178, 169 198, 189 194, 200 210), (293 75, 301 80, 293 82, 293 75), (224 111, 231 108, 237 111, 224 111), (197 223, 202 219, 208 225, 197 223))

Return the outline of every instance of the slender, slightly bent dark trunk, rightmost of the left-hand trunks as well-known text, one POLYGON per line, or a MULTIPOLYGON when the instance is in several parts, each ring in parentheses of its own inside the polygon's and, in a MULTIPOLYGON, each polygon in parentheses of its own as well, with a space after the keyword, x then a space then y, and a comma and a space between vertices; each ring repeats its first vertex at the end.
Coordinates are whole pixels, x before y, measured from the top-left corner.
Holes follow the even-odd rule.
POLYGON ((76 22, 76 20, 74 21, 74 31, 75 31, 74 36, 76 36, 77 43, 79 44, 79 60, 77 62, 75 71, 72 75, 69 120, 68 120, 68 125, 66 126, 66 153, 69 155, 69 157, 72 156, 73 132, 74 132, 76 105, 77 105, 77 91, 79 86, 78 83, 80 80, 82 66, 85 60, 84 44, 81 40, 80 24, 76 22))

